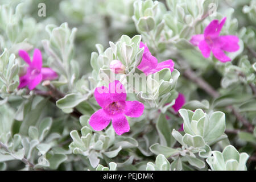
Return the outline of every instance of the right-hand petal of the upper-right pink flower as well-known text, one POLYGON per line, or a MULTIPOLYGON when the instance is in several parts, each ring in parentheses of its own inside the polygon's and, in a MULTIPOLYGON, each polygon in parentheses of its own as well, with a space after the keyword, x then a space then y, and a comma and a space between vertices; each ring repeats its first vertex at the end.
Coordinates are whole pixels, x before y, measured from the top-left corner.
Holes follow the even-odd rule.
POLYGON ((219 42, 223 51, 235 52, 240 48, 238 45, 239 38, 235 35, 220 36, 219 42))

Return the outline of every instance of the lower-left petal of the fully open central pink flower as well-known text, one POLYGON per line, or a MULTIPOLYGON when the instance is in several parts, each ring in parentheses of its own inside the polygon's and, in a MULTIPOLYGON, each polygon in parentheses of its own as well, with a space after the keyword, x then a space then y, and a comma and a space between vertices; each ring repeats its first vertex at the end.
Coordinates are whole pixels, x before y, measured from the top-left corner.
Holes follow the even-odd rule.
POLYGON ((97 110, 92 114, 89 120, 89 125, 93 130, 100 131, 109 125, 111 118, 105 113, 103 109, 97 110))

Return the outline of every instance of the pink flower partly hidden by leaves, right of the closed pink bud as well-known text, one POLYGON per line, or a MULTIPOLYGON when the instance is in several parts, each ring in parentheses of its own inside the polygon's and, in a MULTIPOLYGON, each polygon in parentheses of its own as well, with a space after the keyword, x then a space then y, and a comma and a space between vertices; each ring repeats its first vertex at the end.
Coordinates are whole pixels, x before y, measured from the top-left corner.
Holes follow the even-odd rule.
POLYGON ((151 55, 151 52, 149 51, 146 44, 143 44, 142 42, 139 44, 139 48, 144 47, 144 52, 142 55, 141 63, 138 65, 138 69, 140 69, 142 72, 144 72, 146 75, 150 75, 152 73, 158 72, 162 70, 163 68, 169 68, 172 71, 174 71, 174 61, 166 60, 162 63, 158 63, 158 60, 156 57, 151 55))

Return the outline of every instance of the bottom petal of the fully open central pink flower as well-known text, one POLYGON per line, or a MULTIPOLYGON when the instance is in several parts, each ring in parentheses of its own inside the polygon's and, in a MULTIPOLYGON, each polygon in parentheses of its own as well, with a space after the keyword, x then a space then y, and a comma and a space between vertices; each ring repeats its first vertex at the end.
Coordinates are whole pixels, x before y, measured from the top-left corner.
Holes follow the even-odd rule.
POLYGON ((117 133, 118 135, 122 135, 123 133, 130 131, 130 126, 125 115, 119 114, 113 117, 112 125, 115 133, 117 133))

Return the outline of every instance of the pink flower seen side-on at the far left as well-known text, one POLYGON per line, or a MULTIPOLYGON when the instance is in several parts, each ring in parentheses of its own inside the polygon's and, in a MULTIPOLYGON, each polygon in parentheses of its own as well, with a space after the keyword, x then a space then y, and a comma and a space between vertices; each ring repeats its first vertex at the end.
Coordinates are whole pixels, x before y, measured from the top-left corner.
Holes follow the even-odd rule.
POLYGON ((39 49, 35 49, 33 60, 26 51, 19 50, 19 56, 28 64, 27 73, 19 78, 18 88, 28 86, 34 89, 42 80, 53 80, 57 78, 57 73, 51 68, 42 68, 42 55, 39 49))

